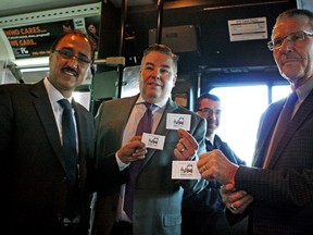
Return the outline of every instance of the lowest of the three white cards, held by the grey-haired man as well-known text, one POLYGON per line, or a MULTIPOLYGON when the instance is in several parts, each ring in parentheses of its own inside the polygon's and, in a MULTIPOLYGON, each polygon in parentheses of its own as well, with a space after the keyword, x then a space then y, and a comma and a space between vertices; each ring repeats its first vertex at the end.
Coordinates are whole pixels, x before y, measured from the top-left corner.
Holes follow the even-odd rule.
POLYGON ((173 161, 172 162, 173 180, 199 180, 201 174, 197 168, 197 161, 173 161))

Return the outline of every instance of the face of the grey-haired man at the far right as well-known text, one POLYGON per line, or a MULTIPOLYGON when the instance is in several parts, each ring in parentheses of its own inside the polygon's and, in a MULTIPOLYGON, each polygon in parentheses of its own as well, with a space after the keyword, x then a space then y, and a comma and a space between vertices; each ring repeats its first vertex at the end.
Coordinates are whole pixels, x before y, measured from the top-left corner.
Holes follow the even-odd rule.
MULTIPOLYGON (((298 32, 313 32, 309 17, 298 15, 280 18, 275 24, 272 40, 298 32)), ((313 37, 305 36, 304 40, 295 42, 285 39, 281 47, 274 50, 273 55, 281 76, 296 88, 313 77, 313 37)))

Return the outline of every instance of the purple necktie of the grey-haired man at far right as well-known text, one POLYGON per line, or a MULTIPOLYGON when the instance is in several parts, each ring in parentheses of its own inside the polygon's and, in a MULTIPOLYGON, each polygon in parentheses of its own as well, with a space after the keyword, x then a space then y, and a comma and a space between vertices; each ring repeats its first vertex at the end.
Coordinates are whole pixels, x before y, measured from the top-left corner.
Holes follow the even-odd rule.
POLYGON ((273 157, 273 154, 274 154, 274 152, 278 146, 278 143, 280 141, 280 139, 281 139, 281 137, 283 137, 283 135, 287 128, 287 125, 291 120, 292 111, 293 111, 293 108, 295 108, 297 100, 298 100, 298 96, 297 96, 296 91, 293 91, 288 97, 286 104, 284 106, 284 108, 281 110, 280 118, 279 118, 279 121, 277 123, 277 127, 276 127, 276 133, 275 133, 275 136, 273 136, 272 148, 267 150, 270 152, 268 152, 268 154, 264 161, 263 168, 267 166, 271 158, 273 157))

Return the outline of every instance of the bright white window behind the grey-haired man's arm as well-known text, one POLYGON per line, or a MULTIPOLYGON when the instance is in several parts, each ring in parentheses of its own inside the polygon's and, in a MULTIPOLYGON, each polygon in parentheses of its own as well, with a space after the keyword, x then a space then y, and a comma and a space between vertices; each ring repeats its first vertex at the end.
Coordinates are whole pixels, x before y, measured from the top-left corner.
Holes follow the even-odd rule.
MULTIPOLYGON (((273 87, 273 102, 288 96, 289 90, 288 85, 273 87)), ((268 104, 267 92, 266 85, 217 87, 210 91, 222 101, 216 133, 247 165, 252 164, 259 121, 268 104)))

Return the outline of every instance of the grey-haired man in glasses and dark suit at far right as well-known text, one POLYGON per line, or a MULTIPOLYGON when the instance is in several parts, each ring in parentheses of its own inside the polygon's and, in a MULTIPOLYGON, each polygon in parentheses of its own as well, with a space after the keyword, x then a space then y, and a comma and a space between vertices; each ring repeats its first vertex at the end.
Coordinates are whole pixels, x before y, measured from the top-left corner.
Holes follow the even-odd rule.
POLYGON ((228 221, 234 224, 249 214, 250 234, 312 233, 312 36, 313 13, 308 10, 288 10, 276 20, 268 48, 291 85, 289 97, 297 95, 298 99, 290 108, 289 98, 272 103, 262 115, 253 166, 233 164, 217 150, 198 162, 203 177, 225 185, 222 197, 228 221), (289 116, 285 120, 286 110, 289 116))

